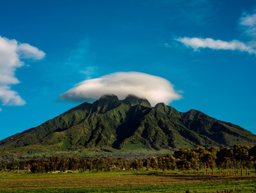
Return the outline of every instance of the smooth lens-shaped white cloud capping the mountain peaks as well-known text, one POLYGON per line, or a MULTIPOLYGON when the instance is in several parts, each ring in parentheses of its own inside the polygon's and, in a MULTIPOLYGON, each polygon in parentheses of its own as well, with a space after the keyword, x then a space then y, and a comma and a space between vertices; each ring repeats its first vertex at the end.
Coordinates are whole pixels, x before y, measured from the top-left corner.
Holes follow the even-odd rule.
POLYGON ((61 94, 61 100, 92 101, 104 94, 115 94, 119 99, 134 94, 148 99, 153 106, 181 99, 174 86, 162 77, 139 72, 117 72, 78 83, 61 94))

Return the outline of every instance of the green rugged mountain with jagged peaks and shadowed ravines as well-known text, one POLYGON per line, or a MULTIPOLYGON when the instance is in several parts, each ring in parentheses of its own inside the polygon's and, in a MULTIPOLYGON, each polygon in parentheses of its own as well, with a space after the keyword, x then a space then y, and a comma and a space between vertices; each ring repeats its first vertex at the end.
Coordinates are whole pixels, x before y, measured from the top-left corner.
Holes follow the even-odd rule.
POLYGON ((181 113, 129 95, 105 95, 83 103, 38 127, 0 141, 0 152, 16 157, 147 154, 181 147, 255 145, 256 136, 197 110, 181 113))

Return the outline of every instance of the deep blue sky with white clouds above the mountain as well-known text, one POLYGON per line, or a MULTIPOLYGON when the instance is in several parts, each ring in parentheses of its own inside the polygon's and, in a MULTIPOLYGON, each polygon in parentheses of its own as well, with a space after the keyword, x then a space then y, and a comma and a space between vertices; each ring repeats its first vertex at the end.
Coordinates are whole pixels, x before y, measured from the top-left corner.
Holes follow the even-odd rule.
POLYGON ((152 83, 151 103, 256 134, 255 1, 10 0, 1 2, 0 36, 0 140, 101 94, 75 84, 108 80, 112 92, 119 75, 127 87, 152 83))

